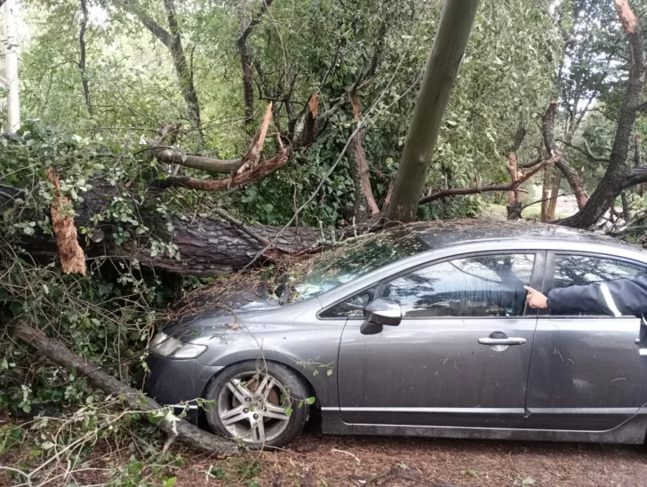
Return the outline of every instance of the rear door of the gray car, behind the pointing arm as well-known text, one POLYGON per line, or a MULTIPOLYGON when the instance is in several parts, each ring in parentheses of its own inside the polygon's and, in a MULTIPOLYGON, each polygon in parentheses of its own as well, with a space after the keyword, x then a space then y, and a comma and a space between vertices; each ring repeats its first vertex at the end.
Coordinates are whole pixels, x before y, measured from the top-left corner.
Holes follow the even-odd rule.
MULTIPOLYGON (((645 273, 643 264, 550 252, 544 292, 645 273)), ((606 430, 647 402, 647 364, 634 316, 539 315, 532 348, 526 427, 606 430)))

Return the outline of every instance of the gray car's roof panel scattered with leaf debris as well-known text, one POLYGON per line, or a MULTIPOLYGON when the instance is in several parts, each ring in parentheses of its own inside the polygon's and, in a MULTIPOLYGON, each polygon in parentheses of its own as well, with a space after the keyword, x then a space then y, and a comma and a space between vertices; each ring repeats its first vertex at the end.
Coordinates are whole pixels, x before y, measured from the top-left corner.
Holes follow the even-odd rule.
POLYGON ((527 221, 476 219, 426 221, 412 223, 411 230, 417 234, 419 240, 435 249, 461 243, 511 240, 601 243, 603 245, 635 249, 635 246, 621 242, 611 236, 559 225, 527 221))

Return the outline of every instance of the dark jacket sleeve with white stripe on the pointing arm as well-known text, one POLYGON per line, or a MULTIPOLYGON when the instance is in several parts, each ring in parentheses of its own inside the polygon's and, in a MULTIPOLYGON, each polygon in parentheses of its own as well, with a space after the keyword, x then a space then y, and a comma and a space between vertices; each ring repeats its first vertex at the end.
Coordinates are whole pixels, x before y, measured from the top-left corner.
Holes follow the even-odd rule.
POLYGON ((548 291, 556 315, 647 315, 647 275, 548 291))

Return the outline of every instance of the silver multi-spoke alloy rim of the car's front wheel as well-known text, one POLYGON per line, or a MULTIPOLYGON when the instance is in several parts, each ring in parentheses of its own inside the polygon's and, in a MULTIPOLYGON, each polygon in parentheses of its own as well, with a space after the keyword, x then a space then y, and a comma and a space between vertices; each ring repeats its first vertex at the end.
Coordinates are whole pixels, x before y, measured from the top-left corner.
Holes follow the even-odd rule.
POLYGON ((220 422, 245 443, 268 443, 288 427, 290 406, 281 382, 268 373, 251 371, 229 379, 218 395, 220 422))

